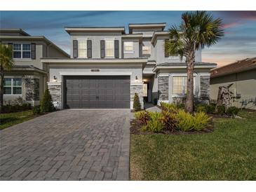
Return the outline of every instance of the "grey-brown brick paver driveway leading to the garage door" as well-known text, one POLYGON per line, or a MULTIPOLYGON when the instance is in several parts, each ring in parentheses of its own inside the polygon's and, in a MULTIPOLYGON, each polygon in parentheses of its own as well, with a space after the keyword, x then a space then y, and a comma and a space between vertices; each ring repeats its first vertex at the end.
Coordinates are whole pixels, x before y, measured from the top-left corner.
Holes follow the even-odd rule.
POLYGON ((64 110, 0 131, 1 180, 128 180, 130 110, 64 110))

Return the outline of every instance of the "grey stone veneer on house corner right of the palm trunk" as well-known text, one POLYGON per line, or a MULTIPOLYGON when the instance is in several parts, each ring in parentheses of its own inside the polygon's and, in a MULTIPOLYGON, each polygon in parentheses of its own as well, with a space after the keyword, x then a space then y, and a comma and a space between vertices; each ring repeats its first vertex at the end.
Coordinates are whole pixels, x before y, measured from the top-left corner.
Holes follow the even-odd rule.
POLYGON ((210 76, 201 76, 200 79, 200 100, 201 102, 209 102, 210 100, 210 76))

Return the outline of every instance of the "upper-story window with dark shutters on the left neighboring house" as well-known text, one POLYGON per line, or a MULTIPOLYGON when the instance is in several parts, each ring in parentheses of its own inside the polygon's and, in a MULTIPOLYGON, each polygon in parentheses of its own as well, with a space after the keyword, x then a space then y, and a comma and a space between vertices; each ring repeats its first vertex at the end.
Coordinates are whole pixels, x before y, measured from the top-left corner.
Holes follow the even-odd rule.
POLYGON ((13 58, 28 59, 31 58, 30 44, 13 44, 13 58))

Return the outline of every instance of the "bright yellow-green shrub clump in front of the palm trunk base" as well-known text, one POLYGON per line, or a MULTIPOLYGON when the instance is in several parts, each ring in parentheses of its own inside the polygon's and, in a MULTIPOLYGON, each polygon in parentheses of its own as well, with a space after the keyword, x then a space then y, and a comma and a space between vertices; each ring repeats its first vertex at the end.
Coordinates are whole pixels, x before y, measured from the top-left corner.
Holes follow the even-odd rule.
POLYGON ((203 130, 204 128, 207 128, 210 123, 210 118, 203 111, 198 112, 193 116, 180 109, 177 111, 176 118, 177 129, 184 132, 191 130, 203 130))

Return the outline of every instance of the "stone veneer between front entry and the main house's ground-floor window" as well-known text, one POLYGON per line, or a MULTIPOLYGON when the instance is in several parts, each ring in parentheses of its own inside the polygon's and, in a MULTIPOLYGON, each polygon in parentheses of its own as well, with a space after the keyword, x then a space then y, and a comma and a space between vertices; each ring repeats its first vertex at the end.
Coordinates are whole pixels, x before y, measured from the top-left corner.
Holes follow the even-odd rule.
POLYGON ((167 101, 169 89, 169 76, 159 76, 159 101, 167 101))

